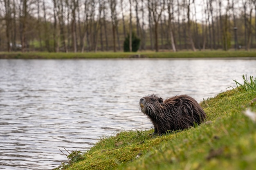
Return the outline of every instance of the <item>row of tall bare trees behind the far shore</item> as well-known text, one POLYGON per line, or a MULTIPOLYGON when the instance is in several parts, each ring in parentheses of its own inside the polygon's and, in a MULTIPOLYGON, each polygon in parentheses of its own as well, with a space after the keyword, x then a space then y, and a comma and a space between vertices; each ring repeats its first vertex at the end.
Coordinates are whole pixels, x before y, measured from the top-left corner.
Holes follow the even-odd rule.
POLYGON ((256 0, 0 0, 0 50, 256 48, 256 0))

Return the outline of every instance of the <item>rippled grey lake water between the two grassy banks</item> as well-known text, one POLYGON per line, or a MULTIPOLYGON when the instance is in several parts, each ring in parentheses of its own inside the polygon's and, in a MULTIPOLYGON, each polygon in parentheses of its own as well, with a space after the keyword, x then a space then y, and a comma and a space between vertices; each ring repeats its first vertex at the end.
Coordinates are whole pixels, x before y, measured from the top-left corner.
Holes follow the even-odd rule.
POLYGON ((52 169, 60 150, 88 150, 102 135, 150 129, 147 94, 198 102, 256 76, 256 60, 0 60, 0 169, 52 169), (60 149, 60 150, 59 150, 60 149))

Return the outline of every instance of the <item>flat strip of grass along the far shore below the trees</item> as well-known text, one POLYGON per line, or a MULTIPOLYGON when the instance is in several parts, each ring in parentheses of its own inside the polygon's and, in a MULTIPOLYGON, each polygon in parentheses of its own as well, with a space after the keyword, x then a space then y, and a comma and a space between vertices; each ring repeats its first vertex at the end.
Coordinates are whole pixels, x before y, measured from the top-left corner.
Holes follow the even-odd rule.
POLYGON ((181 51, 181 52, 0 52, 0 59, 102 59, 102 58, 203 58, 256 57, 256 51, 181 51))

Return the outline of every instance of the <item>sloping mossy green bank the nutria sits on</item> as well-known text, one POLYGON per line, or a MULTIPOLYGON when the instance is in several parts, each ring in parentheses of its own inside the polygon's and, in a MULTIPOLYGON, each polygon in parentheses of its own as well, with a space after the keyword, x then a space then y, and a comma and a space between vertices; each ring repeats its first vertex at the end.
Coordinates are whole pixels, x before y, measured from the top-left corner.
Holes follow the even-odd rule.
POLYGON ((69 163, 59 168, 255 169, 256 122, 244 114, 248 108, 256 112, 255 84, 255 79, 248 85, 241 83, 239 88, 201 102, 208 118, 198 127, 163 136, 151 136, 153 130, 149 130, 122 131, 115 136, 101 137, 87 152, 72 152, 69 163))

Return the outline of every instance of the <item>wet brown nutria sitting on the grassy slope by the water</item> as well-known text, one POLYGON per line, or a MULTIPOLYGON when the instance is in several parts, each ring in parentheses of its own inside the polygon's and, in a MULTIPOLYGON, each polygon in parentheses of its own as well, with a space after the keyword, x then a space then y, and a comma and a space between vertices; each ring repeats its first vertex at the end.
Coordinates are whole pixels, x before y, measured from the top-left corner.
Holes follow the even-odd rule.
POLYGON ((154 134, 162 135, 200 124, 206 114, 195 99, 187 95, 173 96, 166 100, 156 94, 139 100, 139 106, 155 127, 154 134))

